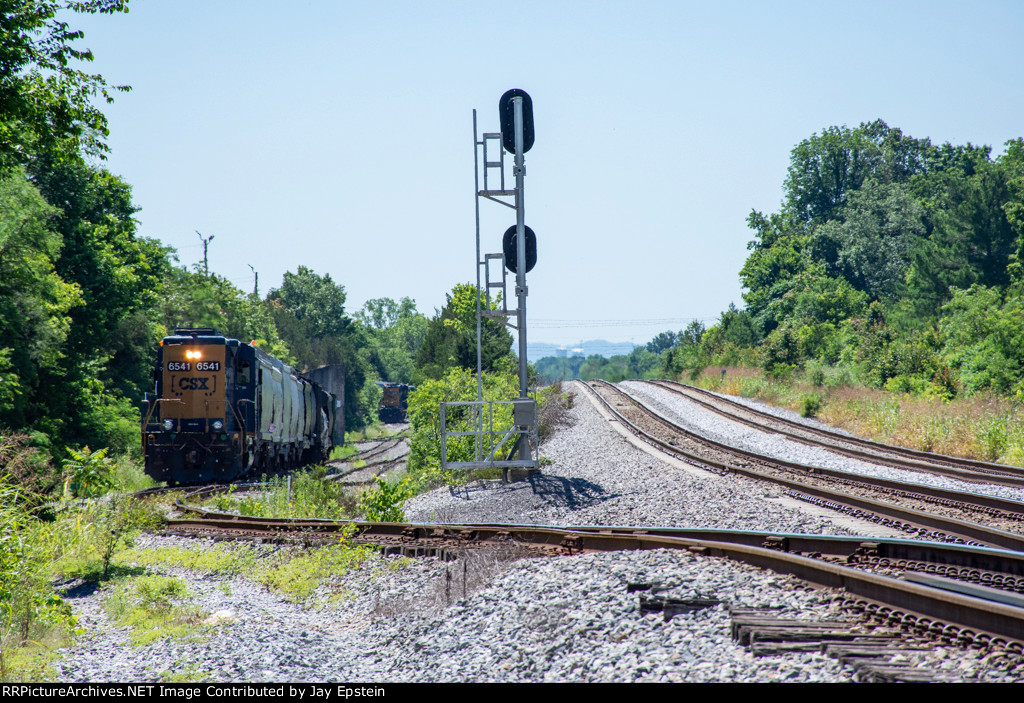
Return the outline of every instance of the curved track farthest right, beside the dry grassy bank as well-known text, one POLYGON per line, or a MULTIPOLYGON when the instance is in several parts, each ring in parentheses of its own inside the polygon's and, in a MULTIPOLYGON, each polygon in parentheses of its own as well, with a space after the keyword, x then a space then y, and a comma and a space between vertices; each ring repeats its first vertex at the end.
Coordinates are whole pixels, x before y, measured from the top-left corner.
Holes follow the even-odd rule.
POLYGON ((811 427, 769 412, 763 412, 749 405, 723 398, 702 388, 687 386, 676 381, 641 381, 637 383, 681 395, 705 409, 730 421, 757 430, 779 434, 802 444, 823 447, 851 458, 869 463, 882 460, 888 466, 945 476, 961 481, 1024 487, 1024 468, 1021 467, 936 454, 811 427))

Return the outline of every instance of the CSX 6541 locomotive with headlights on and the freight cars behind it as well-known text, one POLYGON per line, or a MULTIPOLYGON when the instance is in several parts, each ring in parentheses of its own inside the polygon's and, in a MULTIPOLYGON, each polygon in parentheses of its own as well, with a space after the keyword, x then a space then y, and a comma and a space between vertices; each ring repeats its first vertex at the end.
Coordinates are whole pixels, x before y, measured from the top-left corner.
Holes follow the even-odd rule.
POLYGON ((142 419, 145 473, 171 484, 231 481, 326 460, 341 403, 258 347, 211 328, 160 343, 142 419))

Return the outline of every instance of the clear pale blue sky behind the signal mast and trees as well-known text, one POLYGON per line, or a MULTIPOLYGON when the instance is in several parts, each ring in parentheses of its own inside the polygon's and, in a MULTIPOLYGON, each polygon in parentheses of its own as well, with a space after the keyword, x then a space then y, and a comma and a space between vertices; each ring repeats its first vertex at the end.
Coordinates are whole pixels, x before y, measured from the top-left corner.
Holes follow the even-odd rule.
MULTIPOLYGON (((348 310, 432 314, 475 279, 472 109, 522 88, 529 340, 642 344, 742 304, 752 209, 790 150, 885 120, 933 142, 1024 136, 1020 2, 133 0, 74 16, 104 107, 106 167, 140 233, 243 290, 308 266, 348 310)), ((514 213, 481 205, 484 251, 514 213)))

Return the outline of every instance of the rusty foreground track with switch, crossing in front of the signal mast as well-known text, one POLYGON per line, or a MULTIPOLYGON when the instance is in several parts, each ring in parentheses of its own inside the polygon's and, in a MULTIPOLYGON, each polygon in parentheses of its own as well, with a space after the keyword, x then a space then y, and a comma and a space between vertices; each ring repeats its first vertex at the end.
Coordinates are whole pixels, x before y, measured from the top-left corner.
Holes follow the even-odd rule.
POLYGON ((188 517, 168 521, 168 532, 303 544, 347 535, 353 542, 410 556, 446 558, 467 548, 507 550, 510 545, 524 556, 550 557, 683 550, 842 589, 849 609, 908 635, 1024 656, 1024 554, 1009 551, 749 531, 282 520, 227 516, 188 506, 181 509, 188 517))

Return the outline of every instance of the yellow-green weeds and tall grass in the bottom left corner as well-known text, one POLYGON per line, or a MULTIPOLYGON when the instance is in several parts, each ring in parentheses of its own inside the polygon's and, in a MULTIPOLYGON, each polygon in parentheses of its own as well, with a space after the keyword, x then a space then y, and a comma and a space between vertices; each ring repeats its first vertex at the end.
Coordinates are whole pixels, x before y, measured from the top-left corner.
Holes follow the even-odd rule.
POLYGON ((95 495, 145 483, 129 457, 114 463, 105 453, 75 451, 80 463, 95 459, 86 467, 95 470, 95 490, 87 490, 84 474, 69 465, 63 491, 48 457, 24 436, 0 437, 0 680, 51 678, 48 664, 56 649, 81 632, 55 584, 106 578, 114 555, 159 522, 152 509, 127 494, 95 495), (57 497, 62 492, 67 496, 57 497))

